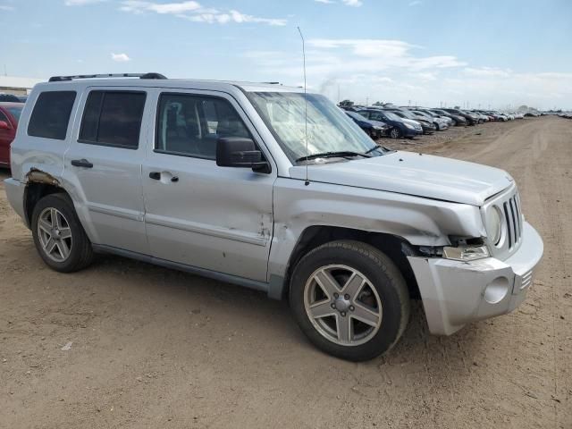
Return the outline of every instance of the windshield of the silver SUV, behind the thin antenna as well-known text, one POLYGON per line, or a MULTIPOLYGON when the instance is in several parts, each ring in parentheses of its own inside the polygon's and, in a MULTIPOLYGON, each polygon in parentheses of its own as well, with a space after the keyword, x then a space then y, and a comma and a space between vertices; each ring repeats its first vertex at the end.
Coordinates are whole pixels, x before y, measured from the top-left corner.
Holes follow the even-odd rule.
MULTIPOLYGON (((303 156, 341 151, 371 153, 377 147, 346 113, 324 96, 307 94, 307 122, 304 94, 252 92, 248 96, 292 163, 303 156)), ((379 150, 385 152, 383 147, 379 150)))

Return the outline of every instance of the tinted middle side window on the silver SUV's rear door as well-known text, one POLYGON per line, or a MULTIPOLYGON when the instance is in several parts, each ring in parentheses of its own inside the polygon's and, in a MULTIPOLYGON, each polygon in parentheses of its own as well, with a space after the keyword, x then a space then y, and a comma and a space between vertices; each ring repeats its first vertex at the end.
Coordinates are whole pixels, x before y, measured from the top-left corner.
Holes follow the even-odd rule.
POLYGON ((146 97, 144 92, 91 91, 81 120, 80 142, 137 149, 146 97))

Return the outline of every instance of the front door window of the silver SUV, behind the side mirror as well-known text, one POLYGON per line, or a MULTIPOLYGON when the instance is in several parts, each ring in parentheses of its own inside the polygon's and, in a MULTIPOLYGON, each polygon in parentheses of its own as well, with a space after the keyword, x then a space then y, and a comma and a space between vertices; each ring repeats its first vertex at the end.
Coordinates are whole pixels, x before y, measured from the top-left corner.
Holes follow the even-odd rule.
POLYGON ((156 150, 215 159, 221 137, 251 138, 244 122, 223 98, 162 94, 157 109, 156 150))

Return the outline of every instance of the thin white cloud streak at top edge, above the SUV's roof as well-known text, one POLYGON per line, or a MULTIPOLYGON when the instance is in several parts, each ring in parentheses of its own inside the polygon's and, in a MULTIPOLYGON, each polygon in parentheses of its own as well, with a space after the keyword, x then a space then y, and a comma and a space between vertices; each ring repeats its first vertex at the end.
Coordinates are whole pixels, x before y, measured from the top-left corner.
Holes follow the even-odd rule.
POLYGON ((240 13, 237 10, 220 11, 214 8, 206 8, 195 1, 184 1, 176 3, 153 3, 141 0, 124 0, 120 9, 129 13, 162 13, 172 14, 178 18, 193 21, 206 22, 209 24, 235 23, 262 23, 274 26, 286 25, 287 21, 277 18, 260 18, 247 13, 240 13))

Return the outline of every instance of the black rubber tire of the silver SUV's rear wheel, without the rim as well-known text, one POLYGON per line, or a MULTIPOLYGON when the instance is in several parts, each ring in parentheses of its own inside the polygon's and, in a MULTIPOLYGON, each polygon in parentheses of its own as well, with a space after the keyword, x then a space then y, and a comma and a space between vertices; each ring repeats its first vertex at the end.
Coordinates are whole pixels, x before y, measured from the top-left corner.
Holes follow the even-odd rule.
POLYGON ((38 201, 38 204, 34 207, 34 211, 32 213, 31 230, 39 256, 44 260, 46 265, 53 270, 60 273, 72 273, 87 267, 93 262, 94 253, 93 248, 91 247, 91 242, 89 241, 83 226, 81 226, 80 219, 75 213, 73 203, 68 195, 57 193, 41 198, 38 201), (63 214, 64 220, 69 225, 71 231, 69 256, 61 262, 55 261, 46 254, 39 238, 38 219, 40 214, 42 214, 46 208, 55 208, 63 214))

